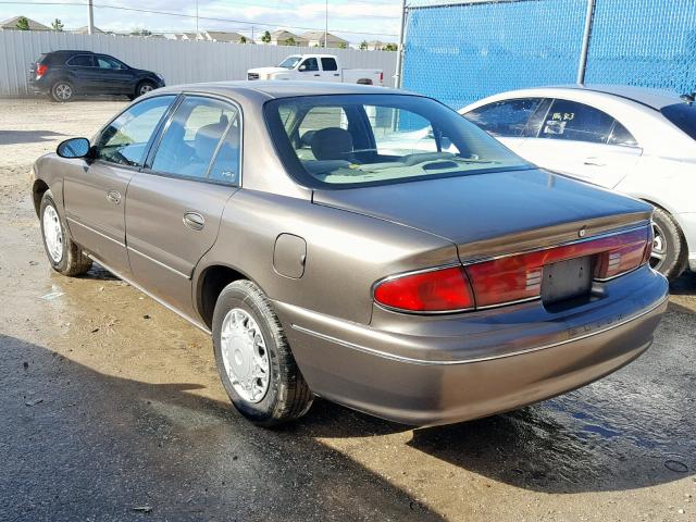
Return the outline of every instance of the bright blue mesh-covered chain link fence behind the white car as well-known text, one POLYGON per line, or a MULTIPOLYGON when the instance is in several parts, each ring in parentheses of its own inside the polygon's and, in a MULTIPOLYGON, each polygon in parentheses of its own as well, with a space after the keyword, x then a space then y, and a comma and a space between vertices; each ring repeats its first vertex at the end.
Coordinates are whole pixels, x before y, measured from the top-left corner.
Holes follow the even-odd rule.
MULTIPOLYGON (((461 108, 575 83, 588 0, 410 0, 403 82, 461 108)), ((595 0, 586 84, 696 89, 696 1, 595 0)))

